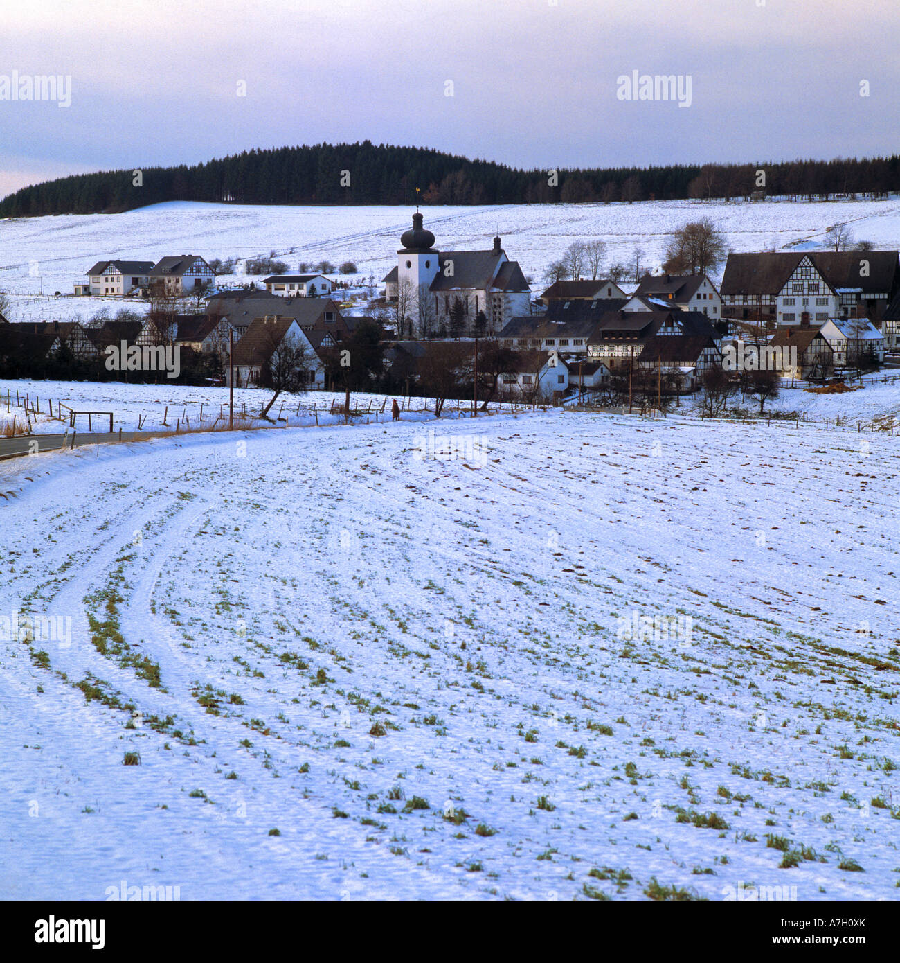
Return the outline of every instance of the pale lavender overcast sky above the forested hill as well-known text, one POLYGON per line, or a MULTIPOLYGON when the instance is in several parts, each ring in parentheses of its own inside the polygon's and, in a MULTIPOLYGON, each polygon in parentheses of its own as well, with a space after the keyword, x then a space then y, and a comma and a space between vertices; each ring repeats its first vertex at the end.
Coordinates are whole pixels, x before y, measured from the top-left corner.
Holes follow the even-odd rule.
POLYGON ((67 108, 0 99, 0 195, 322 141, 526 168, 896 153, 898 38, 898 0, 0 0, 0 98, 71 78, 67 108), (690 106, 619 99, 634 70, 689 77, 690 106))

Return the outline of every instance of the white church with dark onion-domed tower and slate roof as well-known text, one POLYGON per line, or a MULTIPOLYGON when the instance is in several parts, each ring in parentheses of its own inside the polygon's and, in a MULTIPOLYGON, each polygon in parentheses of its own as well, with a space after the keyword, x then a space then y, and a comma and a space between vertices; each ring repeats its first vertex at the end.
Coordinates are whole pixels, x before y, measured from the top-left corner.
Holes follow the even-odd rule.
POLYGON ((490 250, 439 250, 423 220, 417 208, 412 228, 400 237, 397 267, 383 278, 385 299, 399 304, 408 325, 400 336, 446 331, 457 300, 465 312, 464 335, 499 334, 511 318, 529 313, 525 274, 506 257, 499 237, 490 250))

